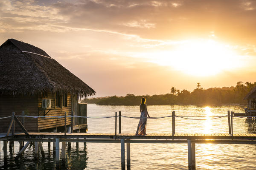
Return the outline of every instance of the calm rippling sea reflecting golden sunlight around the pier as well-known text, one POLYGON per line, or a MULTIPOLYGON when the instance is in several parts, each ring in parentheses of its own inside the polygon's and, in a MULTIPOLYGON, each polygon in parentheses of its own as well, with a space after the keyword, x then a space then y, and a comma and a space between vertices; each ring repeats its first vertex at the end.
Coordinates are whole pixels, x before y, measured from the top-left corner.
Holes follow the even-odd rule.
MULTIPOLYGON (((192 105, 153 105, 148 106, 150 116, 169 116, 175 111, 177 116, 219 116, 227 111, 243 112, 239 106, 192 105)), ((140 116, 139 106, 99 106, 88 104, 88 116, 114 116, 122 111, 125 116, 140 116)), ((135 133, 139 119, 122 118, 122 133, 135 133)), ((115 118, 88 119, 88 133, 114 133, 115 118)), ((175 118, 176 133, 228 133, 227 117, 211 120, 190 120, 175 118)), ((234 133, 256 133, 255 122, 234 118, 234 133)), ((172 119, 148 119, 147 133, 171 133, 172 119)), ((9 146, 9 145, 8 145, 9 146)), ((8 150, 9 170, 47 170, 55 169, 55 158, 48 143, 44 142, 45 158, 41 155, 34 160, 34 149, 29 147, 23 158, 15 161, 19 144, 15 142, 11 153, 8 150)), ((3 147, 3 142, 1 142, 3 147)), ((256 145, 254 144, 196 144, 197 170, 255 170, 256 145)), ((2 148, 1 148, 2 149, 2 148)), ((9 147, 8 147, 9 149, 9 147)), ((3 150, 0 163, 3 165, 3 150)), ((126 154, 125 154, 126 155, 126 154)), ((109 143, 71 143, 67 150, 68 170, 113 170, 121 169, 120 144, 109 143)), ((132 170, 186 170, 188 167, 187 144, 131 144, 132 170)), ((1 167, 3 168, 3 167, 1 167)))

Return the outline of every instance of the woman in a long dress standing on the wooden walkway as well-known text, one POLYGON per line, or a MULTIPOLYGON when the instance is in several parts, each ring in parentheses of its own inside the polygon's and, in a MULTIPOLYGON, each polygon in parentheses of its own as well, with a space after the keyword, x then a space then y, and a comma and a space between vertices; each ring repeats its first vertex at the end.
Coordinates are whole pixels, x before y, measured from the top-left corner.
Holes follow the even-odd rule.
POLYGON ((146 99, 143 97, 140 104, 140 122, 135 135, 146 135, 147 116, 150 118, 147 111, 146 99))

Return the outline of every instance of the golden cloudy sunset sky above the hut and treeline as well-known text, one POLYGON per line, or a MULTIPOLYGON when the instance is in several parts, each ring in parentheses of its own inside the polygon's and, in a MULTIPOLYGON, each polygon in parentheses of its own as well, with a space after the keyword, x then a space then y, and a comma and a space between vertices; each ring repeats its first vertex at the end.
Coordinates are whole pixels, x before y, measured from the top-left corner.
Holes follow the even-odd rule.
POLYGON ((256 1, 0 1, 0 44, 42 48, 96 96, 256 82, 256 1))

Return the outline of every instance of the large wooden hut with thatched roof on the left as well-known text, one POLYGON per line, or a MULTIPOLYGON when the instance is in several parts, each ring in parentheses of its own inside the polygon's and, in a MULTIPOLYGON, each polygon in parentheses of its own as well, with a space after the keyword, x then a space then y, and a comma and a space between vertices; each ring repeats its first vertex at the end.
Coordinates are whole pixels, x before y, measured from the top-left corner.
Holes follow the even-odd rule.
MULTIPOLYGON (((65 112, 71 115, 72 111, 75 115, 87 116, 87 105, 79 105, 79 97, 93 94, 92 88, 42 49, 15 39, 0 46, 0 117, 11 116, 12 112, 31 116, 25 117, 28 132, 63 132, 64 118, 35 119, 33 116, 64 116, 65 112)), ((1 120, 0 132, 7 132, 10 120, 1 120)), ((70 124, 71 118, 67 117, 67 125, 70 124)), ((15 131, 21 131, 15 127, 15 131)), ((75 118, 73 129, 86 130, 87 120, 75 118)))

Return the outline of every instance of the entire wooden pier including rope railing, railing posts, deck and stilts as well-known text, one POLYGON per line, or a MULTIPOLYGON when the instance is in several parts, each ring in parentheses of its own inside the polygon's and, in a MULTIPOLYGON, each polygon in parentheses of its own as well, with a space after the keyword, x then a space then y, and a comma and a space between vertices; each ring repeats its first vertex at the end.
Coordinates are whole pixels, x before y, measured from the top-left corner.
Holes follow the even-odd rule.
MULTIPOLYGON (((186 143, 188 145, 188 169, 195 170, 195 144, 256 144, 256 134, 250 133, 233 133, 233 117, 236 113, 230 111, 227 112, 227 115, 224 116, 214 116, 216 118, 227 117, 229 133, 175 133, 175 117, 186 118, 184 116, 175 116, 175 111, 172 112, 172 133, 148 133, 145 136, 136 136, 135 133, 122 133, 121 130, 121 112, 117 116, 108 116, 107 118, 115 119, 115 133, 73 133, 73 114, 71 116, 71 126, 66 127, 67 115, 64 116, 65 128, 63 133, 54 132, 28 132, 19 121, 15 113, 12 113, 12 120, 10 122, 7 133, 0 134, 0 141, 3 141, 3 157, 4 165, 7 165, 7 142, 10 144, 14 141, 20 142, 20 152, 17 153, 16 159, 18 159, 29 146, 32 144, 35 146, 35 158, 38 159, 39 149, 41 155, 44 156, 44 148, 42 142, 53 142, 53 153, 55 154, 56 169, 60 168, 60 156, 62 165, 65 165, 66 162, 66 143, 76 142, 77 145, 79 142, 96 142, 96 143, 120 143, 121 145, 121 167, 122 170, 125 170, 125 143, 126 143, 126 161, 127 161, 127 170, 131 167, 131 143, 175 143, 181 144, 186 143), (117 133, 117 117, 119 117, 119 133, 117 133), (24 133, 15 133, 14 124, 17 123, 18 127, 23 130, 24 133), (68 129, 68 130, 67 130, 68 129), (11 132, 12 130, 12 132, 11 132), (11 133, 10 133, 11 132, 11 133), (26 144, 24 145, 24 142, 26 144), (61 144, 60 144, 61 142, 61 144), (60 149, 61 146, 61 149, 60 149), (61 155, 60 155, 61 151, 61 155)), ((9 116, 10 117, 10 116, 9 116)), ((43 116, 42 116, 43 117, 43 116)), ((80 116, 81 117, 81 116, 80 116)), ((193 117, 193 116, 192 116, 193 117)), ((195 116, 194 116, 195 117, 195 116)), ((200 117, 200 116, 199 116, 200 117)), ((87 118, 87 117, 86 117, 87 118)), ((93 117, 96 118, 96 117, 93 117)), ((97 117, 98 118, 98 117, 97 117)), ((99 117, 101 119, 102 117, 99 117)), ((154 118, 163 118, 163 117, 154 117, 154 118)), ((2 118, 3 119, 3 118, 2 118)), ((202 120, 202 119, 201 119, 202 120)), ((49 146, 50 143, 48 143, 49 146)))

